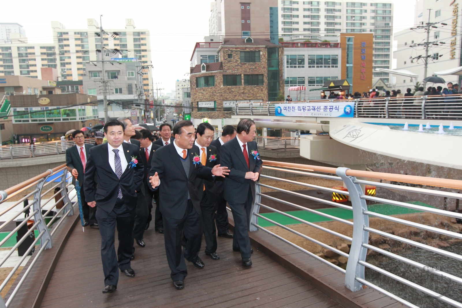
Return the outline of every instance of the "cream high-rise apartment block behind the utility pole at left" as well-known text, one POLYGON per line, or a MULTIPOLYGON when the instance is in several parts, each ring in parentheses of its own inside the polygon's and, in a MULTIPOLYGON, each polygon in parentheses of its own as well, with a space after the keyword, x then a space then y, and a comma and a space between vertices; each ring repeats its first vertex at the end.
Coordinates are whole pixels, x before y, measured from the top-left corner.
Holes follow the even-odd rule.
MULTIPOLYGON (((57 21, 52 21, 51 27, 59 53, 58 70, 61 80, 82 80, 87 73, 88 62, 101 60, 102 48, 106 50, 106 61, 114 58, 135 58, 142 64, 151 63, 149 30, 135 29, 133 19, 125 19, 124 29, 104 29, 107 34, 103 38, 99 35, 99 24, 93 18, 87 19, 87 29, 66 29, 57 21)), ((145 95, 152 95, 152 72, 147 67, 142 72, 145 95)))

